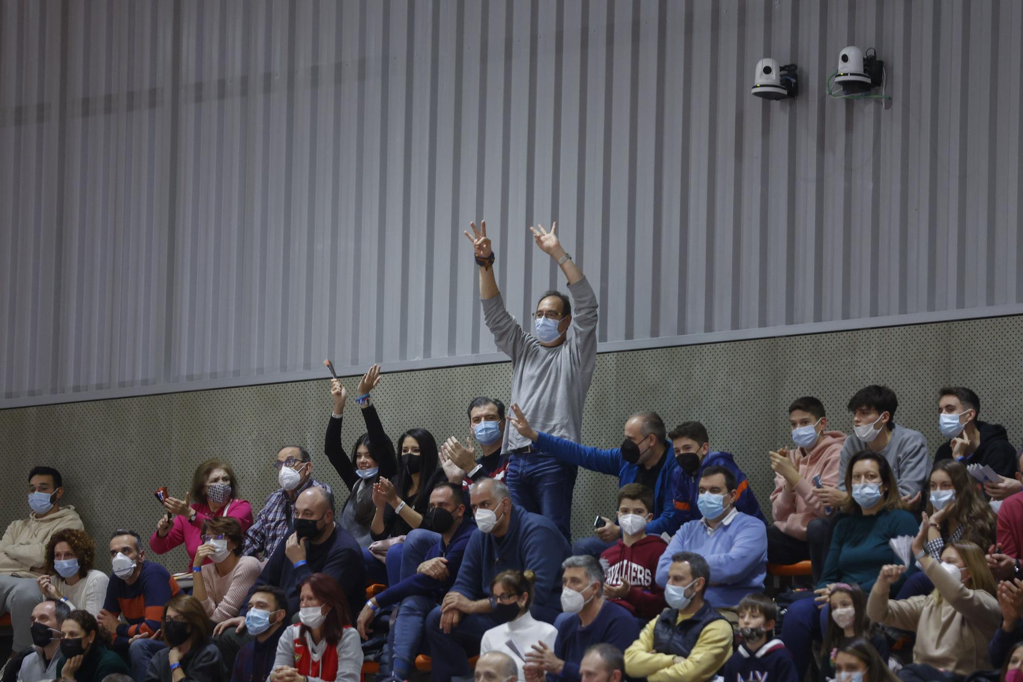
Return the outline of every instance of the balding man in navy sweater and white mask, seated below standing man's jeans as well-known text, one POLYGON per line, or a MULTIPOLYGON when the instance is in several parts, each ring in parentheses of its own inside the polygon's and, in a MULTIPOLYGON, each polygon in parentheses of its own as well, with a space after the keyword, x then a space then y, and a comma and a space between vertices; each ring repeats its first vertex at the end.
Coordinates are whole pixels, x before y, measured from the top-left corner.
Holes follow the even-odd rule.
POLYGON ((497 573, 533 571, 533 617, 553 623, 561 610, 558 584, 569 544, 558 526, 516 507, 507 486, 493 478, 473 483, 470 501, 479 532, 469 541, 451 591, 427 616, 435 680, 469 675, 468 658, 479 652, 483 633, 500 625, 489 594, 497 573))

